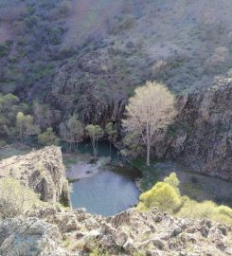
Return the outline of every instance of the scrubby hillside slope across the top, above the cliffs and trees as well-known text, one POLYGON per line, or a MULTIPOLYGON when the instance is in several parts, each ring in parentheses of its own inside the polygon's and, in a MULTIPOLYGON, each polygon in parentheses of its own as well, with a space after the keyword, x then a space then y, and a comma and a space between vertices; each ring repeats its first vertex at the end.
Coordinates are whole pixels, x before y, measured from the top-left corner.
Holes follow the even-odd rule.
MULTIPOLYGON (((27 101, 53 100, 52 108, 64 113, 69 106, 92 109, 90 97, 100 105, 119 101, 146 80, 187 93, 230 67, 228 0, 14 0, 1 6, 1 90, 27 101)), ((88 120, 85 111, 81 118, 88 120)))

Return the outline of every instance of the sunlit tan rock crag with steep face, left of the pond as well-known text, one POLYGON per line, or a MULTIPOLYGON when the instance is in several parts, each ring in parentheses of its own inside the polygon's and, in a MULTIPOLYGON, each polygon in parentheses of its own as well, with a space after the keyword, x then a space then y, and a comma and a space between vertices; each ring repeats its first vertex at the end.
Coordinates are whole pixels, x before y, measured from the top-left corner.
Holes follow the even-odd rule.
POLYGON ((0 162, 0 178, 13 177, 40 194, 45 202, 69 204, 68 184, 59 147, 45 147, 27 155, 12 156, 0 162))

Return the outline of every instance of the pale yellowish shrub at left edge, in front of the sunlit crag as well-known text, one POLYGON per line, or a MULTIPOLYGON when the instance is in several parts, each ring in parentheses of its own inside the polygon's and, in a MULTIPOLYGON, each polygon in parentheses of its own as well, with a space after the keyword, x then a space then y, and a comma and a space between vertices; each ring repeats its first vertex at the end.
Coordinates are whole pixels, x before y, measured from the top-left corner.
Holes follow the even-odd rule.
POLYGON ((24 214, 40 203, 38 195, 20 181, 13 178, 0 179, 0 217, 24 214))

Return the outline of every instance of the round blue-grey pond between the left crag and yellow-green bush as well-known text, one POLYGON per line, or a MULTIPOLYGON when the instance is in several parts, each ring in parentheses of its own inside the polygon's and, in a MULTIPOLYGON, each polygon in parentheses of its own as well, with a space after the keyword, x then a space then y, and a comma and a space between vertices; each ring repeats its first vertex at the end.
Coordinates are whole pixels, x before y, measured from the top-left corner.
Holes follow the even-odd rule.
POLYGON ((102 169, 98 174, 74 182, 71 193, 74 209, 109 216, 137 203, 139 191, 130 174, 102 169))

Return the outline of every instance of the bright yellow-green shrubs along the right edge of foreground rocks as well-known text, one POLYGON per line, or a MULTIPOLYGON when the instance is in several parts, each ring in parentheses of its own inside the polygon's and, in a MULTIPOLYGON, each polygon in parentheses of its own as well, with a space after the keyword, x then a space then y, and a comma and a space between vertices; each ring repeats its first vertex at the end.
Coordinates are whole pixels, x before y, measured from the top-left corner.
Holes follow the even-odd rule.
POLYGON ((226 206, 218 206, 212 201, 197 202, 187 196, 181 196, 179 192, 179 180, 172 173, 158 182, 152 190, 140 195, 138 210, 151 210, 157 207, 159 210, 169 211, 178 217, 191 219, 211 219, 224 224, 232 225, 232 209, 226 206))

